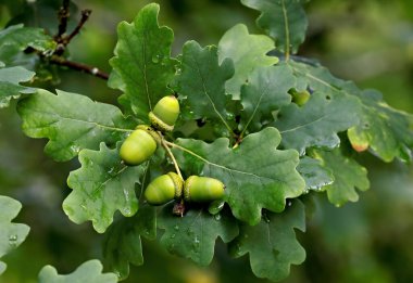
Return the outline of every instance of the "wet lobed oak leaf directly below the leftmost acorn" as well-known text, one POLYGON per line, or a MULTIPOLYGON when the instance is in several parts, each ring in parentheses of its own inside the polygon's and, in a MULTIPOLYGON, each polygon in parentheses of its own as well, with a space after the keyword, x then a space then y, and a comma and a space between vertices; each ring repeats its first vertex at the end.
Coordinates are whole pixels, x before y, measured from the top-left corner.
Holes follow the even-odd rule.
POLYGON ((116 210, 126 217, 136 214, 135 184, 140 183, 143 165, 124 165, 118 150, 110 150, 104 143, 100 144, 100 151, 83 150, 79 162, 82 167, 67 178, 73 191, 63 202, 63 209, 73 222, 91 220, 95 230, 103 233, 116 210))

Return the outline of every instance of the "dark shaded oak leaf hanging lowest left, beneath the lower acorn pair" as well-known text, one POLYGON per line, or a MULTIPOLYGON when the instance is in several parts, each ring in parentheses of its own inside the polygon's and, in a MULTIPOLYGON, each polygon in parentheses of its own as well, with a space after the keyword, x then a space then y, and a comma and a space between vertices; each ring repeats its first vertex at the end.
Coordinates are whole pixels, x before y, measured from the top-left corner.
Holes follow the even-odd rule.
POLYGON ((129 274, 129 263, 143 263, 140 237, 155 240, 157 209, 143 205, 132 218, 114 222, 107 231, 103 242, 104 266, 124 280, 129 274))

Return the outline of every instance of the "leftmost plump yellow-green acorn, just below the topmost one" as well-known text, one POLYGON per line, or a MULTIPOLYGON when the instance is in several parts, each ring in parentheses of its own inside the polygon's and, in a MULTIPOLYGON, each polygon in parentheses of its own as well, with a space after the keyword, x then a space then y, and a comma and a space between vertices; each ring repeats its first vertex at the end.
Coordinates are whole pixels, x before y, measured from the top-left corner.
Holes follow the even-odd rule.
MULTIPOLYGON (((158 134, 158 133, 157 133, 158 134)), ((120 155, 127 165, 139 165, 157 151, 157 139, 148 130, 136 129, 123 142, 120 155)))

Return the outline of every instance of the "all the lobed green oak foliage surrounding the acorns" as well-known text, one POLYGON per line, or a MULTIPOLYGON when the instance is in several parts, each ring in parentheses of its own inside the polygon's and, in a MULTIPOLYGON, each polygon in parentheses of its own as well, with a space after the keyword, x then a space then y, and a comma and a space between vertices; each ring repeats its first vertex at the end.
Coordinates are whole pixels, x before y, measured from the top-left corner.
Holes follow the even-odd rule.
MULTIPOLYGON (((16 25, 0 33, 7 47, 0 52, 0 107, 18 100, 24 133, 48 139, 45 152, 57 162, 77 156, 80 168, 68 175, 72 192, 63 209, 73 222, 91 221, 105 233, 103 262, 117 275, 101 274, 101 263, 91 260, 64 276, 45 267, 40 282, 126 279, 129 263, 143 263, 142 237, 158 239, 168 253, 201 266, 210 265, 221 237, 231 257, 249 254, 256 276, 279 281, 305 258, 295 229, 305 231, 306 194, 325 192, 336 206, 358 201, 355 189, 370 186, 366 169, 355 160, 362 151, 384 162, 412 159, 412 115, 391 108, 377 91, 363 91, 293 55, 308 26, 304 1, 241 3, 261 12, 256 23, 267 35, 250 35, 238 24, 217 46, 189 40, 176 57, 172 29, 159 25, 158 4, 146 5, 132 23, 120 23, 109 86, 122 92, 122 110, 74 92, 22 86, 39 76, 22 67, 37 70, 23 51, 35 50, 27 56, 50 64, 66 62, 67 53, 59 54, 57 37, 39 28, 16 25), (304 90, 310 100, 296 104, 291 93, 304 90), (170 93, 182 107, 177 130, 160 133, 155 156, 127 166, 120 145, 137 125, 149 124, 148 113, 170 93), (198 175, 222 181, 222 202, 149 206, 142 191, 172 166, 184 179, 198 175), (178 205, 185 205, 182 217, 173 214, 178 205)), ((13 209, 1 231, 18 211, 13 209)), ((9 252, 2 249, 0 256, 9 252)))

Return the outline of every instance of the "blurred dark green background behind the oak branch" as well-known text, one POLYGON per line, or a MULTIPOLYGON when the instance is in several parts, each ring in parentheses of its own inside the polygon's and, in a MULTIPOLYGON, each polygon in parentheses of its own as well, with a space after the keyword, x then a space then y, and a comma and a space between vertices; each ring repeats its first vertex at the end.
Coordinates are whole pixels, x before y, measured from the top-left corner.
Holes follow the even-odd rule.
MULTIPOLYGON (((57 30, 54 0, 0 0, 0 26, 11 18, 57 30)), ((130 22, 149 1, 77 0, 79 10, 92 14, 71 43, 71 59, 110 72, 108 60, 116 42, 116 25, 130 22)), ((174 29, 174 55, 195 39, 217 43, 237 23, 254 25, 259 13, 236 0, 162 0, 160 22, 174 29)), ((399 110, 413 113, 413 2, 411 0, 314 0, 306 4, 308 39, 299 54, 315 57, 336 76, 375 88, 399 110)), ((78 12, 73 10, 71 27, 78 12)), ((118 92, 105 81, 77 72, 55 68, 59 79, 41 82, 48 89, 78 92, 115 103, 118 92)), ((17 222, 32 231, 21 247, 5 256, 8 270, 0 282, 36 282, 45 265, 61 273, 101 257, 102 235, 89 222, 77 226, 63 214, 61 204, 70 193, 65 181, 76 160, 57 164, 48 158, 43 140, 26 138, 20 129, 15 103, 0 111, 0 194, 23 203, 17 222)), ((360 201, 336 208, 324 195, 311 196, 315 205, 308 231, 298 232, 306 249, 303 265, 291 268, 284 282, 413 282, 413 167, 384 164, 368 153, 359 162, 368 168, 371 190, 360 201)), ((254 278, 248 258, 233 260, 217 243, 213 263, 198 268, 168 256, 157 243, 143 242, 145 265, 132 267, 125 282, 266 282, 254 278)))

